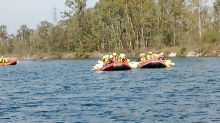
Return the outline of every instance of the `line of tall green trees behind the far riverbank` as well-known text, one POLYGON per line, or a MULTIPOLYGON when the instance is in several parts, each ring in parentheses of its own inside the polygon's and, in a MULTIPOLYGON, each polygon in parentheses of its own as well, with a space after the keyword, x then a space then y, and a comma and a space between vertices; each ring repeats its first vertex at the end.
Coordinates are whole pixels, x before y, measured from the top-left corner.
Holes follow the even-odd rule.
POLYGON ((21 25, 16 35, 0 25, 0 54, 130 52, 146 48, 220 41, 220 0, 66 0, 65 19, 36 29, 21 25))

